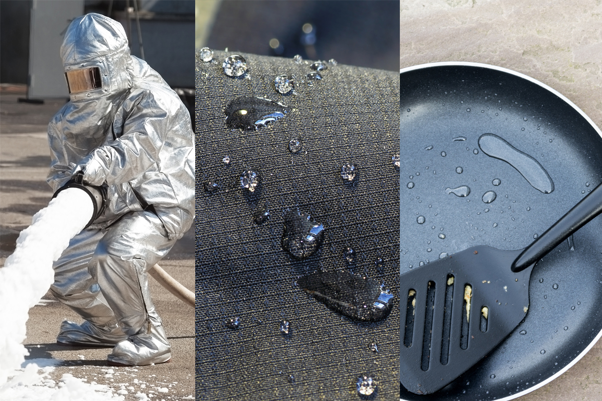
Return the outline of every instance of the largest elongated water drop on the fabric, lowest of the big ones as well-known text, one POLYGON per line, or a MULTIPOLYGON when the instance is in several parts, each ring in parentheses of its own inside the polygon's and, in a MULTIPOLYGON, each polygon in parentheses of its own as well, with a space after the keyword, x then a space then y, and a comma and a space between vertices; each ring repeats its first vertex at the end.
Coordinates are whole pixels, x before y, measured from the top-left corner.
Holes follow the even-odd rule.
POLYGON ((297 280, 306 293, 353 320, 376 322, 393 308, 393 294, 376 280, 347 271, 315 272, 297 280))

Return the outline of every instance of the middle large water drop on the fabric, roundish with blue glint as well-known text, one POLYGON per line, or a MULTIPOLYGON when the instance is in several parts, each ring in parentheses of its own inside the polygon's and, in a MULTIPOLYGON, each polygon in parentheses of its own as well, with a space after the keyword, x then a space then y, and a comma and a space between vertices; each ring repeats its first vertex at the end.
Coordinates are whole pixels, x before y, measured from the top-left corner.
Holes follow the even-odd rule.
POLYGON ((282 249, 297 260, 312 256, 324 239, 324 226, 299 210, 284 210, 282 249))

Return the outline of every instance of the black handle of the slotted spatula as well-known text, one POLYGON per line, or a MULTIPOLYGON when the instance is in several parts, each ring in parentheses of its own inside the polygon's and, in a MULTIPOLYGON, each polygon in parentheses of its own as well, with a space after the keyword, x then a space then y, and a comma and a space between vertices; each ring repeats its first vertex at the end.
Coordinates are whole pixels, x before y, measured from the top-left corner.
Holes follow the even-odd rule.
POLYGON ((573 206, 573 209, 569 210, 566 215, 562 216, 531 245, 527 246, 523 253, 512 263, 512 271, 520 272, 533 265, 556 248, 556 245, 567 239, 600 213, 602 213, 602 183, 592 192, 589 192, 585 198, 573 206))

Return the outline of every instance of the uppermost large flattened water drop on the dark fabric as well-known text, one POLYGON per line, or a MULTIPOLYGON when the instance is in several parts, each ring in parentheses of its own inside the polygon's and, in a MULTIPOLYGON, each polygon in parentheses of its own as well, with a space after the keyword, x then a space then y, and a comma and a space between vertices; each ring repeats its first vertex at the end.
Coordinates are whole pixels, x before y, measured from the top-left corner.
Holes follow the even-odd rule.
POLYGON ((270 121, 284 117, 287 112, 288 107, 282 103, 256 96, 237 97, 224 110, 226 126, 244 130, 265 126, 270 121))

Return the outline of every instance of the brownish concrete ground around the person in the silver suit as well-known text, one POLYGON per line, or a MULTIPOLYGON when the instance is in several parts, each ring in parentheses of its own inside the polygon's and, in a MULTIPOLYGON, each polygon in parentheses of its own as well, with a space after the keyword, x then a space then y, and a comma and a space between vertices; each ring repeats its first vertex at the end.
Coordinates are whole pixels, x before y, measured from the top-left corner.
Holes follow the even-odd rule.
MULTIPOLYGON (((52 196, 46 184, 50 162, 46 126, 64 100, 46 100, 42 105, 19 103, 25 87, 0 87, 0 266, 13 250, 19 232, 31 224, 31 217, 46 207, 52 196)), ((194 233, 189 230, 160 262, 173 278, 194 291, 194 233)), ((126 390, 126 400, 139 400, 144 393, 156 400, 182 400, 194 397, 194 310, 149 278, 153 301, 163 319, 172 344, 172 362, 145 367, 107 366, 107 348, 59 346, 55 343, 64 319, 81 319, 47 293, 43 305, 29 310, 28 360, 57 364, 51 378, 58 382, 63 373, 126 390), (112 369, 109 370, 109 369, 112 369), (112 373, 111 373, 112 372, 112 373), (167 389, 167 392, 160 391, 167 389)), ((1 283, 0 283, 1 285, 1 283)), ((9 324, 2 322, 2 325, 9 324)))

